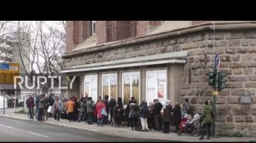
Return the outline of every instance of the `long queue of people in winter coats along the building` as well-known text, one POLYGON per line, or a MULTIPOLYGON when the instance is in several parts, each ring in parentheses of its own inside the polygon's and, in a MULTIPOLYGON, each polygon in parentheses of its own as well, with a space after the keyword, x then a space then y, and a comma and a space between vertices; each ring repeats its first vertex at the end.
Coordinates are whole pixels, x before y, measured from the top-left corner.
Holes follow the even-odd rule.
MULTIPOLYGON (((113 97, 105 95, 104 100, 99 96, 98 101, 93 101, 91 97, 80 95, 78 100, 75 96, 60 100, 56 97, 55 101, 52 96, 37 96, 35 104, 33 97, 29 96, 27 100, 29 120, 33 120, 33 106, 36 106, 36 118, 38 121, 48 120, 49 116, 54 116, 54 122, 59 119, 68 119, 70 122, 78 121, 89 125, 105 126, 108 124, 115 126, 131 127, 131 131, 162 131, 170 132, 170 125, 176 127, 175 132, 180 130, 181 121, 187 118, 189 103, 188 99, 184 100, 182 108, 180 103, 171 105, 171 101, 165 101, 162 104, 158 99, 154 99, 149 104, 142 101, 141 104, 131 97, 129 104, 124 109, 122 99, 118 97, 117 101, 113 97), (53 110, 49 111, 49 106, 53 110), (51 115, 53 114, 53 115, 51 115)), ((202 109, 202 129, 207 128, 209 139, 212 126, 212 106, 210 101, 205 102, 202 109)), ((204 138, 206 131, 202 131, 200 139, 204 138)))

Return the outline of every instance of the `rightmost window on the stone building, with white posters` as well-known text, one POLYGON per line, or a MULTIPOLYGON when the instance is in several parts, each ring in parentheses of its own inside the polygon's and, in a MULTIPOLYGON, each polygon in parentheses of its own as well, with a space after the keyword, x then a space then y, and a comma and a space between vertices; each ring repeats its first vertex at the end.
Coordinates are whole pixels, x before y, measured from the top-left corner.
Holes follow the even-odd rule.
POLYGON ((167 99, 167 70, 146 71, 146 102, 167 99))

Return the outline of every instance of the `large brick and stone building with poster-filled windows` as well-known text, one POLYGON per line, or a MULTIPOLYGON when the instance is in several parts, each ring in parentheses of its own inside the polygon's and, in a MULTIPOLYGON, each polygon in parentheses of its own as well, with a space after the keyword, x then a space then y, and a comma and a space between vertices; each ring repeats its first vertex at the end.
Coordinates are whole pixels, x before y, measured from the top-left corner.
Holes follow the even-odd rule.
POLYGON ((256 22, 72 21, 67 22, 64 74, 76 76, 69 94, 137 101, 188 97, 195 112, 212 98, 207 73, 213 53, 227 88, 217 96, 217 131, 256 129, 256 22), (214 24, 213 24, 214 23, 214 24), (252 96, 241 104, 240 96, 252 96))

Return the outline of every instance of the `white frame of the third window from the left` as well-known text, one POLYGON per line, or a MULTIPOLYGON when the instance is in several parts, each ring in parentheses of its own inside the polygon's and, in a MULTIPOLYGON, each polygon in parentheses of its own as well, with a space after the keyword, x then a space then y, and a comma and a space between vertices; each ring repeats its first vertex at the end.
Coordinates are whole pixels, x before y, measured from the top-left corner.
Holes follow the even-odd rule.
POLYGON ((122 73, 122 101, 123 101, 123 103, 124 103, 124 107, 125 106, 127 106, 127 105, 125 105, 125 98, 124 98, 124 76, 126 76, 126 75, 129 75, 130 76, 130 89, 131 89, 131 91, 130 91, 130 98, 129 98, 129 100, 131 100, 131 96, 133 96, 132 95, 132 79, 131 79, 131 75, 136 75, 136 74, 138 74, 139 75, 139 101, 138 101, 138 103, 141 103, 141 72, 123 72, 122 73))

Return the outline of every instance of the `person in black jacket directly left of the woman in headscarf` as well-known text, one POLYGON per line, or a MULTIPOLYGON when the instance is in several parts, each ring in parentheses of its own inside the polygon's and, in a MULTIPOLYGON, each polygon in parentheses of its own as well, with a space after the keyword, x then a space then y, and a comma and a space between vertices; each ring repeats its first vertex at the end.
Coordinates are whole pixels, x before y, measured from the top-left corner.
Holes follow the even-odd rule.
POLYGON ((152 114, 155 118, 156 130, 157 131, 161 130, 161 128, 160 128, 160 125, 161 125, 161 108, 162 108, 161 102, 158 101, 158 99, 155 99, 152 114))

